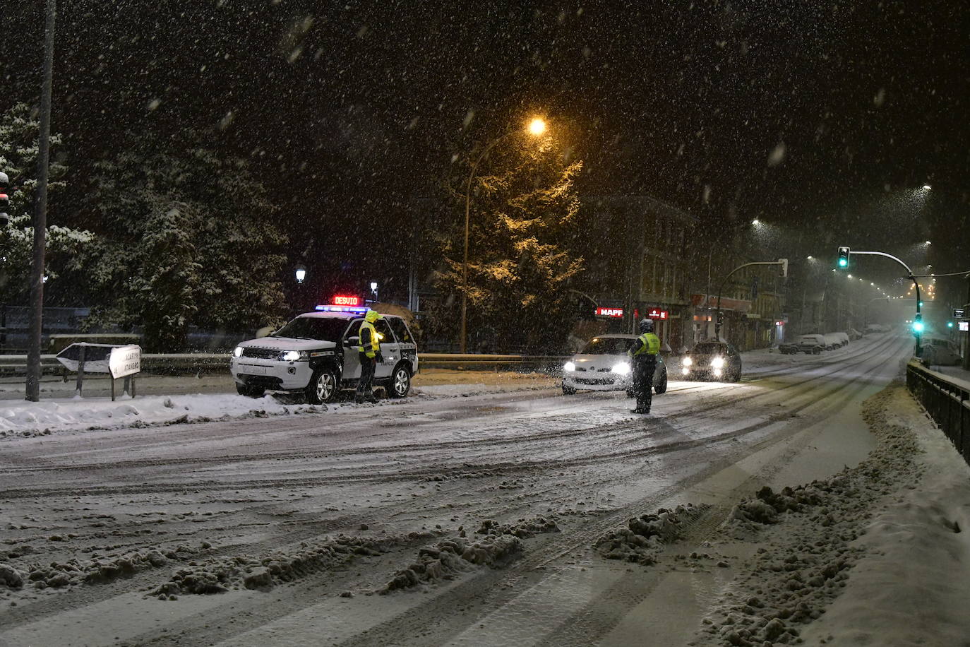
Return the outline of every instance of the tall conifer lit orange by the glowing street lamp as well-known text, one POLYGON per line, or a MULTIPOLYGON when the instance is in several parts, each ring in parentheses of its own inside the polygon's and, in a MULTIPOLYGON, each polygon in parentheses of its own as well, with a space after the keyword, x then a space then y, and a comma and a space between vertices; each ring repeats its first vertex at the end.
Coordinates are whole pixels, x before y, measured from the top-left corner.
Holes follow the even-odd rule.
MULTIPOLYGON (((583 269, 583 259, 567 251, 578 236, 573 181, 582 162, 568 162, 543 139, 497 147, 482 167, 490 174, 471 185, 469 340, 494 336, 505 348, 562 345, 575 319, 570 287, 583 269)), ((464 222, 444 241, 445 267, 437 275, 442 294, 454 295, 436 309, 437 323, 447 317, 455 332, 463 251, 464 222)))

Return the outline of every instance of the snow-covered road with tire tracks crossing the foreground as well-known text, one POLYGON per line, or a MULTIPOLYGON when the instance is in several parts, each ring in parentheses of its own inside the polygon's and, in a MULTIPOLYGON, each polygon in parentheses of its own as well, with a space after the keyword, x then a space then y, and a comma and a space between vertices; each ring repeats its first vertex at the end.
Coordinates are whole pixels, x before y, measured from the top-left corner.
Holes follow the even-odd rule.
POLYGON ((910 346, 765 354, 650 417, 544 389, 4 438, 0 644, 702 642, 734 503, 863 460, 910 346), (593 548, 688 503, 640 564, 593 548))

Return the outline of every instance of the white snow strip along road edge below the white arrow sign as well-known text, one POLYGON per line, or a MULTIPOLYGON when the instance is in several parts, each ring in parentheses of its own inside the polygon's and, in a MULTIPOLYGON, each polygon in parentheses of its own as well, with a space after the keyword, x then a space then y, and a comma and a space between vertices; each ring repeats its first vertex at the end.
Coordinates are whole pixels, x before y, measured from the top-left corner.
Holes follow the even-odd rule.
POLYGON ((0 437, 43 436, 54 431, 117 429, 157 424, 210 422, 233 418, 319 413, 326 405, 282 404, 275 398, 237 395, 188 395, 110 400, 8 401, 0 405, 0 437))

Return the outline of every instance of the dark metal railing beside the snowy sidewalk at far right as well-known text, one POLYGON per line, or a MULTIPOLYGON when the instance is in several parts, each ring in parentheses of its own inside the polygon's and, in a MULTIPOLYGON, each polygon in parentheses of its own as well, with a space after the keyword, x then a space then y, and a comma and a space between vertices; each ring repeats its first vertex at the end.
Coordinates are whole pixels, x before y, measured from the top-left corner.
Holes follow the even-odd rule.
POLYGON ((916 360, 906 365, 906 388, 970 464, 970 389, 927 371, 916 360))

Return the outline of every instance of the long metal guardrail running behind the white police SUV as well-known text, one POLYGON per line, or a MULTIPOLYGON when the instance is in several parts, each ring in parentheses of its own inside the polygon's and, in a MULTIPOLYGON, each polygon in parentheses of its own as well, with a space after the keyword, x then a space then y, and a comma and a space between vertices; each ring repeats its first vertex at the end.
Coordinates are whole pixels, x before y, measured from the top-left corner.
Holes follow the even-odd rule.
MULTIPOLYGON (((559 355, 478 355, 474 353, 418 353, 419 368, 424 369, 494 369, 558 371, 569 356, 559 355)), ((26 355, 0 355, 0 374, 21 375, 26 372, 26 355)), ((142 371, 163 374, 218 372, 229 368, 229 353, 146 353, 142 371)), ((41 372, 67 374, 55 355, 41 355, 41 372)))

